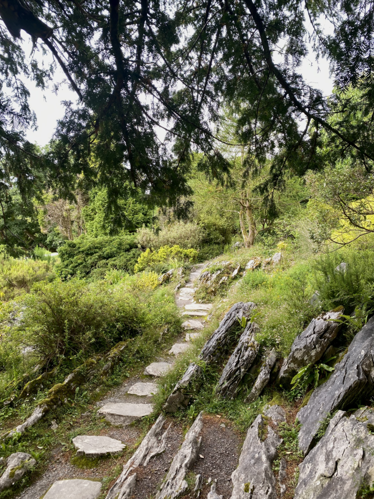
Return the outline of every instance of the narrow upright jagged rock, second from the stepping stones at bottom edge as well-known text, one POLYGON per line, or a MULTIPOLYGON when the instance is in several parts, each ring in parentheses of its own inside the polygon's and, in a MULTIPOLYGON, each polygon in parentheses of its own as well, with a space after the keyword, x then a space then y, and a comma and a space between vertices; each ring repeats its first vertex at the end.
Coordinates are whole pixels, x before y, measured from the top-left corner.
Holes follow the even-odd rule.
POLYGON ((161 485, 156 499, 174 499, 185 492, 185 480, 190 467, 195 463, 201 445, 199 437, 202 428, 202 412, 188 430, 181 449, 175 455, 165 482, 161 485))

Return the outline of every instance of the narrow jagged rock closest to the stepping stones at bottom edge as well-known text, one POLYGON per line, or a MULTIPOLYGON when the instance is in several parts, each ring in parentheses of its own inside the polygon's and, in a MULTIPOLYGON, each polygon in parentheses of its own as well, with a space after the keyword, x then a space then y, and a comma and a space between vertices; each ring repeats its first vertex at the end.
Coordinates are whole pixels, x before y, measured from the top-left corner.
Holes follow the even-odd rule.
POLYGON ((117 478, 115 484, 111 487, 105 499, 124 498, 125 497, 124 494, 126 494, 126 491, 128 490, 129 482, 127 480, 130 474, 136 468, 141 466, 142 463, 148 464, 149 459, 151 459, 151 455, 156 456, 157 454, 164 452, 165 439, 171 425, 169 425, 169 428, 161 437, 161 443, 157 437, 157 434, 162 430, 165 421, 166 421, 165 417, 161 414, 158 417, 156 423, 152 426, 150 431, 144 437, 142 443, 135 451, 133 456, 124 465, 121 475, 117 478))

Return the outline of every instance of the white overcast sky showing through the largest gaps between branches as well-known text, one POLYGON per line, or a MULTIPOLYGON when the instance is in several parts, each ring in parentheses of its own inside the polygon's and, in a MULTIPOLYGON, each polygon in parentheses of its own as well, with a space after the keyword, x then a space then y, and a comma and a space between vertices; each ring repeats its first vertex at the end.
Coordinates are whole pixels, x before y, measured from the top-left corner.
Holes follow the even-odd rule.
MULTIPOLYGON (((25 53, 30 54, 31 42, 28 35, 22 32, 24 38, 25 53)), ((34 53, 34 57, 40 60, 40 53, 34 53)), ((329 64, 325 59, 320 59, 317 63, 312 51, 304 60, 300 68, 305 81, 312 86, 315 86, 323 91, 325 95, 330 95, 333 89, 333 81, 329 75, 329 64)), ((54 81, 61 82, 65 79, 65 75, 57 67, 54 81)), ((30 107, 35 112, 37 118, 37 130, 26 130, 26 137, 30 142, 37 143, 39 146, 44 146, 52 138, 56 128, 56 122, 64 115, 64 107, 61 104, 64 100, 76 102, 76 94, 69 89, 67 84, 60 86, 57 95, 52 92, 52 85, 46 90, 36 88, 30 80, 26 82, 26 86, 30 91, 30 107)))

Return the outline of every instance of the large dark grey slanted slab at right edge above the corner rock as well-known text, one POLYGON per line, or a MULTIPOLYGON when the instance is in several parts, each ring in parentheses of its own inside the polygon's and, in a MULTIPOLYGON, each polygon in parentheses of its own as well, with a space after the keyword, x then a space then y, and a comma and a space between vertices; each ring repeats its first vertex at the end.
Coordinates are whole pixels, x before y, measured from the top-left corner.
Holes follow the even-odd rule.
POLYGON ((328 414, 345 409, 374 389, 374 317, 354 337, 330 378, 316 388, 297 414, 302 427, 299 447, 307 454, 328 414))

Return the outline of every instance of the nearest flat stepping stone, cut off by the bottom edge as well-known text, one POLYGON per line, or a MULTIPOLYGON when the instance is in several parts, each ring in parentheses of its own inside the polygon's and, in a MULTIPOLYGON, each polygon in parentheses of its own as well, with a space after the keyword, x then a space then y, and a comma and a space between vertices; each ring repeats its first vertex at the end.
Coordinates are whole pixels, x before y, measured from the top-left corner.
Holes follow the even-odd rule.
POLYGON ((96 499, 101 483, 92 480, 57 480, 43 499, 96 499))

